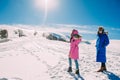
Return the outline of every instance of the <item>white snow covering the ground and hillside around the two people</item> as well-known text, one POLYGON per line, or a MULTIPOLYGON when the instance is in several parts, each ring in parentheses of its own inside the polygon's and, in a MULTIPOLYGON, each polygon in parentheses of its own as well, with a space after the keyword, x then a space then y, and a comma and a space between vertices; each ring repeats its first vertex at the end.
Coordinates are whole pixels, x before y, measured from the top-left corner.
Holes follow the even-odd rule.
MULTIPOLYGON (((0 80, 75 80, 67 72, 70 44, 42 37, 43 33, 60 33, 62 28, 9 25, 0 25, 0 28, 7 29, 9 34, 9 41, 0 43, 0 80), (23 30, 26 37, 19 38, 14 34, 16 29, 23 30), (38 32, 36 36, 33 35, 34 31, 38 32)), ((69 30, 64 28, 63 31, 69 30)), ((80 76, 84 80, 120 80, 119 44, 120 40, 110 40, 107 47, 108 72, 98 73, 96 71, 100 68, 100 63, 95 62, 95 40, 80 43, 80 76)), ((73 73, 74 71, 73 62, 73 73)))

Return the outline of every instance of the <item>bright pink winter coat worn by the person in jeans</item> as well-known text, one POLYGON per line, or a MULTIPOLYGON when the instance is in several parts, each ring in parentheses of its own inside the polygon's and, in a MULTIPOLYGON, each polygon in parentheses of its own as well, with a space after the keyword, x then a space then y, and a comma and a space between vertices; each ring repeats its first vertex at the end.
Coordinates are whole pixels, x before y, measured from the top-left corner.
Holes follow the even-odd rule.
POLYGON ((71 39, 70 43, 70 52, 69 57, 72 59, 79 59, 79 47, 78 44, 81 42, 81 39, 71 39))

